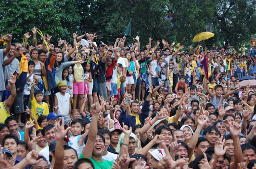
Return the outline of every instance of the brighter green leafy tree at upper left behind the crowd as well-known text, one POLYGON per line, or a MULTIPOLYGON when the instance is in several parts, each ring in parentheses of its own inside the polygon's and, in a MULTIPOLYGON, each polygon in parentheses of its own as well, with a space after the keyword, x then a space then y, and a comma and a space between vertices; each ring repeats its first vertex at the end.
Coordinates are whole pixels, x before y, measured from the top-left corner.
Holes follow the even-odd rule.
POLYGON ((0 11, 0 32, 10 32, 14 41, 19 42, 22 42, 26 32, 31 32, 33 26, 53 36, 53 42, 57 42, 59 37, 71 38, 81 20, 77 3, 68 0, 7 0, 0 6, 0 11))

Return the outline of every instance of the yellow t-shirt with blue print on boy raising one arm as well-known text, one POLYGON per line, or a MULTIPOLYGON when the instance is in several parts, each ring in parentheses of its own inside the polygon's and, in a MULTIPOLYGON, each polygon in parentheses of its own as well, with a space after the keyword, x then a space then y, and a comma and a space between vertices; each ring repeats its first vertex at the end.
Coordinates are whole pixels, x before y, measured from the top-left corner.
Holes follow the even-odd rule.
POLYGON ((33 97, 33 100, 31 101, 31 107, 32 107, 32 115, 37 120, 38 117, 44 115, 47 116, 49 114, 49 107, 48 104, 45 102, 42 102, 41 104, 37 103, 35 97, 33 97))

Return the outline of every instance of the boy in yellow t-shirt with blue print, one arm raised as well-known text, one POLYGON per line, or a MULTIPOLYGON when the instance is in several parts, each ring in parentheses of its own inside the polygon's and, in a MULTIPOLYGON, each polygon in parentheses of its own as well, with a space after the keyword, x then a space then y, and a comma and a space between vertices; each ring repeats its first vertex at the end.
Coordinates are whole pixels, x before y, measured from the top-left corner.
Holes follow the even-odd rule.
POLYGON ((37 120, 39 116, 42 116, 42 115, 47 116, 49 114, 49 108, 47 103, 42 102, 44 95, 40 90, 36 91, 34 96, 34 86, 35 86, 35 81, 31 83, 30 95, 31 95, 32 115, 37 120))

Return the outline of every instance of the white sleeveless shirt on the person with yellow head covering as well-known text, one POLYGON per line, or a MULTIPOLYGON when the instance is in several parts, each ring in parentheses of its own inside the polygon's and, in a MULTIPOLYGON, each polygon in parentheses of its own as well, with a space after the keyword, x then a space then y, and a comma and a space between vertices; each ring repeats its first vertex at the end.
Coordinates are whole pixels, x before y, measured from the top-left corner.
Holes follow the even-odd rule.
POLYGON ((65 95, 61 95, 60 92, 56 93, 55 96, 58 100, 58 115, 60 116, 68 116, 69 115, 69 100, 70 94, 65 93, 65 95))

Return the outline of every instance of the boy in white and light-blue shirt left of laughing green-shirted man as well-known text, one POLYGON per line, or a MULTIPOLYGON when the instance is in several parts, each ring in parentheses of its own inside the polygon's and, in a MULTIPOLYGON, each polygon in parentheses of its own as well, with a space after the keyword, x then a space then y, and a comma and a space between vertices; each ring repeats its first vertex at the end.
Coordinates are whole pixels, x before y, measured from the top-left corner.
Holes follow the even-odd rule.
MULTIPOLYGON (((81 119, 74 119, 71 122, 71 132, 73 133, 73 136, 69 138, 69 145, 75 150, 78 150, 78 142, 82 136, 81 132, 83 130, 84 127, 81 119)), ((82 144, 82 147, 84 147, 84 143, 82 144)), ((80 155, 80 153, 78 153, 78 156, 80 155)))

